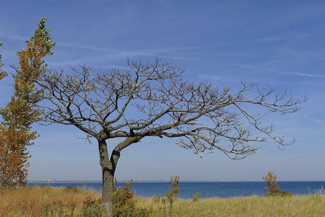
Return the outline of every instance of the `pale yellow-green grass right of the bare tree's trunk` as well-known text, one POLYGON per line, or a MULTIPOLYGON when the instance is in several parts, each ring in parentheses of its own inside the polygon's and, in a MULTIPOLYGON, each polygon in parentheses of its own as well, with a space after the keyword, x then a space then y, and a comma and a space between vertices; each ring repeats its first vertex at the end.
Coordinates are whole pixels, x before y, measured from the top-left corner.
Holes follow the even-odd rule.
MULTIPOLYGON (((139 207, 153 206, 152 216, 164 216, 152 200, 137 200, 139 207)), ((325 195, 178 200, 173 210, 173 216, 325 216, 325 195)))

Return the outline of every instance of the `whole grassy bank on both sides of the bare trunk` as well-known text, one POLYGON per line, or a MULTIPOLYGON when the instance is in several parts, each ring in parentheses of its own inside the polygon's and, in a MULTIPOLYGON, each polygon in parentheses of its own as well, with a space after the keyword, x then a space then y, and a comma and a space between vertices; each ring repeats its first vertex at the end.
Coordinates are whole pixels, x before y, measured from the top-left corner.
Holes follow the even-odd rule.
MULTIPOLYGON (((0 216, 82 216, 84 201, 100 199, 92 191, 27 187, 0 194, 0 216), (53 214, 53 215, 52 215, 53 214)), ((165 216, 166 209, 153 198, 136 198, 149 216, 165 216)), ((178 199, 173 216, 325 216, 325 195, 294 197, 239 197, 178 199)))

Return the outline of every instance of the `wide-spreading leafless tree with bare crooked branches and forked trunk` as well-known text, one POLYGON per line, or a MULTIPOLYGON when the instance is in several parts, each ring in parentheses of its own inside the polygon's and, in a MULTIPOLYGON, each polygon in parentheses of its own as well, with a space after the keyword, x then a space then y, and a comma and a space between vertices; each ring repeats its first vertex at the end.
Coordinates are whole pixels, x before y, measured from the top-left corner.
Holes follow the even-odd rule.
MULTIPOLYGON (((231 159, 256 152, 254 142, 268 138, 287 145, 263 126, 263 115, 253 115, 246 105, 281 114, 299 110, 306 99, 277 94, 275 89, 247 85, 233 92, 207 83, 181 78, 184 70, 155 59, 153 63, 128 60, 128 71, 94 72, 85 66, 72 73, 48 71, 37 83, 50 103, 43 120, 73 125, 98 141, 103 172, 103 206, 113 207, 113 180, 121 150, 144 137, 179 138, 177 144, 195 153, 222 151, 231 159), (124 138, 118 144, 107 140, 124 138)), ((249 107, 250 108, 250 107, 249 107)), ((289 142, 288 144, 291 144, 289 142)))

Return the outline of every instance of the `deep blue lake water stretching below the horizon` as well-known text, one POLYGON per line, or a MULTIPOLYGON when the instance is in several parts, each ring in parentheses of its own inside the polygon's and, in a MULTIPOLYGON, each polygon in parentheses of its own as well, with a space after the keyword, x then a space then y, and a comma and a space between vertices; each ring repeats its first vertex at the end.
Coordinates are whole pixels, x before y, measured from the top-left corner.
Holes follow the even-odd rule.
MULTIPOLYGON (((125 182, 117 182, 123 186, 125 182)), ((314 193, 315 189, 325 188, 325 181, 279 181, 280 189, 295 195, 314 193), (309 187, 309 190, 308 190, 309 187)), ((67 187, 72 185, 77 188, 93 189, 102 191, 100 182, 60 182, 60 183, 28 183, 28 185, 50 185, 51 187, 67 187)), ((240 197, 251 195, 264 195, 265 183, 262 181, 236 181, 236 182, 179 182, 181 198, 191 198, 197 192, 201 197, 240 197)), ((163 195, 169 188, 169 182, 135 182, 133 190, 136 196, 153 197, 163 195)))

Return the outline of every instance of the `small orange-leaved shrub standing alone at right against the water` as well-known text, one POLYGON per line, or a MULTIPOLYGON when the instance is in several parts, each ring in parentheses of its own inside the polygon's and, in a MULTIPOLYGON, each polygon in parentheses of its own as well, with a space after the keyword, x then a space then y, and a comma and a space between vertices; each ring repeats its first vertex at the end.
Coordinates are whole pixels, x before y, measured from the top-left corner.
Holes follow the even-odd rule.
POLYGON ((276 181, 276 175, 273 174, 273 172, 268 172, 266 176, 263 176, 263 180, 267 184, 267 186, 264 188, 264 191, 266 192, 265 196, 293 196, 293 194, 289 192, 280 191, 280 186, 277 184, 276 181))

